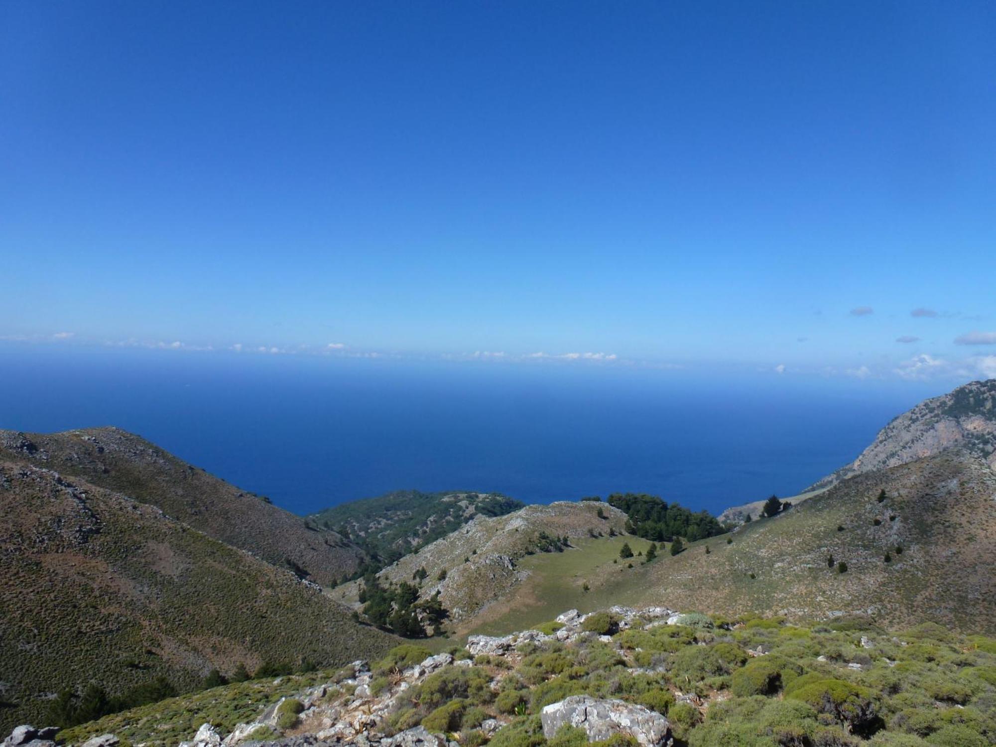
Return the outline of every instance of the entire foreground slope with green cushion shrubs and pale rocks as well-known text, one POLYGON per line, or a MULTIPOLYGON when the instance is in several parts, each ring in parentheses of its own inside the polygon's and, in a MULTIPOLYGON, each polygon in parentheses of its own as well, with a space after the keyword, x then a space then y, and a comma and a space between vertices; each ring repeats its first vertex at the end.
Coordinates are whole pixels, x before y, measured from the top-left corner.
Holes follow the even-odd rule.
POLYGON ((175 744, 208 724, 204 743, 213 731, 226 745, 265 735, 274 747, 400 747, 443 738, 586 747, 600 731, 612 736, 598 747, 662 747, 671 738, 682 747, 996 743, 992 638, 934 623, 896 630, 861 620, 792 625, 671 616, 661 608, 559 620, 545 631, 472 637, 431 657, 406 644, 369 666, 219 687, 60 737, 81 744, 113 733, 134 744, 175 744), (587 710, 578 726, 551 728, 552 715, 574 696, 597 698, 601 708, 587 710), (607 706, 631 717, 610 722, 600 715, 607 706))

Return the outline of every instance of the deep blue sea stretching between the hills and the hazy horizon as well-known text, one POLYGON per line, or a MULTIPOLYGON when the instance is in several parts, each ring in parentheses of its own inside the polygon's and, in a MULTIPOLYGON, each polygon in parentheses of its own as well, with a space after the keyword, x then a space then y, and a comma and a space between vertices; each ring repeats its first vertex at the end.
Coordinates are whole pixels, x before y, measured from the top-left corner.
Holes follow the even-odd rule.
POLYGON ((946 386, 622 367, 0 347, 0 427, 118 425, 308 513, 388 490, 792 495, 946 386))

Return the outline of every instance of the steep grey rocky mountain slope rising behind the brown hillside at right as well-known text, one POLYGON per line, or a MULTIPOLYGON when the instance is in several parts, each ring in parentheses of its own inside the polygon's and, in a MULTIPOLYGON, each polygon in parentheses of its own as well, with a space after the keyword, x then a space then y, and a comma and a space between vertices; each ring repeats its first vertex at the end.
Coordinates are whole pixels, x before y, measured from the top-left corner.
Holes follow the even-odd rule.
POLYGON ((878 431, 857 459, 808 490, 931 456, 951 446, 959 446, 996 467, 996 378, 972 381, 920 402, 878 431))

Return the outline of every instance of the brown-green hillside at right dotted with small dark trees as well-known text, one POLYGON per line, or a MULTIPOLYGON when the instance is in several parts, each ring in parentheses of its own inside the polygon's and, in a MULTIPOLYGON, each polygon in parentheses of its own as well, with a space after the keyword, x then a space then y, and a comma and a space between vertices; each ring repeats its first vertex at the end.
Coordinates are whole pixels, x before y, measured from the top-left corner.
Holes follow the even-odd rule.
POLYGON ((861 612, 889 625, 992 631, 994 565, 996 473, 948 450, 852 477, 773 519, 694 543, 635 569, 628 584, 645 590, 637 602, 711 613, 861 612))

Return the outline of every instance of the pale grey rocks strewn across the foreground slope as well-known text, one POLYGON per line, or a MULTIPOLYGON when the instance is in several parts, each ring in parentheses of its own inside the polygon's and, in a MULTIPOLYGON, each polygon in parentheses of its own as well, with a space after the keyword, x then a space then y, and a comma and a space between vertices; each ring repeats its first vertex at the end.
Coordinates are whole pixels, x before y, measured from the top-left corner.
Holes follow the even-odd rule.
MULTIPOLYGON (((618 629, 653 627, 676 623, 681 616, 664 608, 632 610, 613 608, 609 611, 618 620, 618 629)), ((563 625, 552 633, 525 630, 502 637, 471 635, 465 648, 467 655, 454 657, 438 653, 417 664, 391 671, 383 689, 373 693, 374 672, 368 661, 355 661, 340 676, 282 697, 276 703, 261 709, 258 717, 248 723, 238 724, 228 733, 219 733, 208 723, 202 724, 190 739, 180 747, 316 747, 328 745, 358 745, 360 747, 458 747, 459 743, 439 733, 432 733, 424 726, 405 729, 388 735, 389 717, 398 710, 401 696, 412 687, 425 682, 431 674, 446 667, 472 667, 478 657, 502 663, 489 666, 492 673, 489 683, 497 692, 502 680, 515 671, 523 659, 523 643, 571 643, 582 638, 598 638, 619 647, 611 635, 598 635, 585 631, 583 625, 589 615, 571 610, 561 615, 557 622, 563 625), (289 704, 293 703, 293 708, 289 704), (295 711, 297 718, 287 719, 286 713, 295 711), (290 722, 290 724, 289 724, 290 722)), ((462 652, 461 652, 462 653, 462 652)), ((691 696, 694 698, 695 696, 691 696)), ((514 715, 499 715, 481 722, 479 731, 493 736, 514 719, 514 715)), ((667 719, 641 705, 609 698, 572 696, 546 706, 542 721, 548 737, 565 725, 584 728, 592 740, 608 739, 616 733, 628 734, 643 747, 665 747, 671 744, 667 719)), ((36 729, 31 725, 17 727, 0 747, 56 747, 58 729, 36 729)), ((68 743, 72 745, 72 742, 68 743)), ((124 747, 124 741, 114 734, 101 734, 79 743, 81 747, 124 747)))

